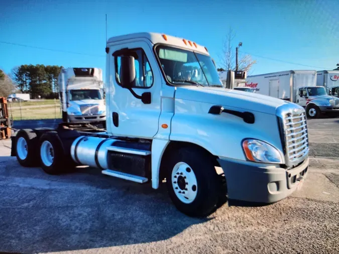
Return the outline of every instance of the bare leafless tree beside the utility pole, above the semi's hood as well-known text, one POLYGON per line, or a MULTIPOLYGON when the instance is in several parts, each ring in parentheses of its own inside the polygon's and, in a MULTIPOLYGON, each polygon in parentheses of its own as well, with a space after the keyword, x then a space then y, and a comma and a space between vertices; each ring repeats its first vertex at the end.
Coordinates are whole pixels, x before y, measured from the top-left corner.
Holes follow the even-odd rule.
MULTIPOLYGON (((225 70, 236 70, 236 53, 235 48, 232 46, 234 44, 234 39, 236 33, 230 27, 229 33, 226 35, 223 42, 223 50, 221 58, 221 64, 225 70)), ((249 71, 251 67, 257 63, 257 60, 253 60, 251 55, 238 56, 238 69, 243 71, 249 71)))

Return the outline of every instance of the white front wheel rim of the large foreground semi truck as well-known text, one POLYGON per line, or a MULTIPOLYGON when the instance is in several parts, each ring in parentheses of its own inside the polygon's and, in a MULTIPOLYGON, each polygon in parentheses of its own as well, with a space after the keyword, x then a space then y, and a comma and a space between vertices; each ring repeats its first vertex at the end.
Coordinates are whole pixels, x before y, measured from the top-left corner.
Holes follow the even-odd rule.
POLYGON ((177 163, 172 170, 172 186, 178 199, 185 203, 192 203, 198 193, 198 185, 192 168, 184 163, 177 163))

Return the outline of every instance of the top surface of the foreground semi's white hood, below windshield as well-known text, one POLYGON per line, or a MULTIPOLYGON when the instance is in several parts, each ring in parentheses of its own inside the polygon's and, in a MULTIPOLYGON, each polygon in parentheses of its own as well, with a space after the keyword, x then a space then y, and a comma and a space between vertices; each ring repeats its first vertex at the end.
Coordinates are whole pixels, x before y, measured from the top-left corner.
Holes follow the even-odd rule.
POLYGON ((278 106, 290 103, 258 93, 244 92, 223 87, 180 86, 176 89, 175 98, 236 107, 269 114, 275 114, 278 106))

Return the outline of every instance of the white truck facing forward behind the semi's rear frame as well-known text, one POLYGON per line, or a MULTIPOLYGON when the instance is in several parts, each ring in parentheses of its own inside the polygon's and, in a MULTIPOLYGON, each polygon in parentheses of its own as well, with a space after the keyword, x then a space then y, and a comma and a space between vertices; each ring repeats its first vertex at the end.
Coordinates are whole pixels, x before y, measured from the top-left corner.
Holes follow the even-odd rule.
POLYGON ((58 77, 64 122, 104 122, 102 70, 63 68, 58 77))

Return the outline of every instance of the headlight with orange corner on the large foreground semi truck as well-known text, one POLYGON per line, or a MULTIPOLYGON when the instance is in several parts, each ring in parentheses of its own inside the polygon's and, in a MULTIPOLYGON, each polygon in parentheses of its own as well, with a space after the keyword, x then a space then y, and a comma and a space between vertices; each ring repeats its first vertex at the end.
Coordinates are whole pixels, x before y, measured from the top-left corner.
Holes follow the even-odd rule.
POLYGON ((279 151, 273 146, 260 140, 245 140, 243 149, 247 159, 254 162, 283 163, 279 151))

